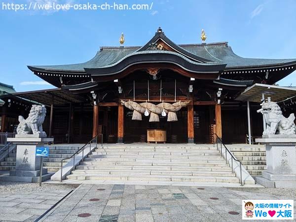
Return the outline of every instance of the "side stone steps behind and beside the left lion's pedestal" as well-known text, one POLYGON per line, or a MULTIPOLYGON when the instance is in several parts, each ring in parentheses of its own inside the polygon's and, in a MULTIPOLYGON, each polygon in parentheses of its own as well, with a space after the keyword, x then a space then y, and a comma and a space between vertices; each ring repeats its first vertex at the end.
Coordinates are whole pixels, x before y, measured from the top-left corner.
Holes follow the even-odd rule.
MULTIPOLYGON (((49 147, 48 158, 43 158, 43 167, 48 172, 56 172, 61 168, 61 160, 72 156, 83 145, 52 145, 49 147)), ((15 170, 16 148, 0 162, 0 170, 15 170)), ((64 160, 65 165, 70 160, 64 160)))

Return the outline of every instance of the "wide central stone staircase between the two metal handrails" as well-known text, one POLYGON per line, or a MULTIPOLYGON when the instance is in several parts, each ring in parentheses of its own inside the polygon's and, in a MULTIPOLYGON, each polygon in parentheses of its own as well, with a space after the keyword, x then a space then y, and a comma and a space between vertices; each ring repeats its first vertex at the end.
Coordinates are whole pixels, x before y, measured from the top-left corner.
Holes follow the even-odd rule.
POLYGON ((213 145, 105 145, 95 149, 69 180, 239 183, 213 145))

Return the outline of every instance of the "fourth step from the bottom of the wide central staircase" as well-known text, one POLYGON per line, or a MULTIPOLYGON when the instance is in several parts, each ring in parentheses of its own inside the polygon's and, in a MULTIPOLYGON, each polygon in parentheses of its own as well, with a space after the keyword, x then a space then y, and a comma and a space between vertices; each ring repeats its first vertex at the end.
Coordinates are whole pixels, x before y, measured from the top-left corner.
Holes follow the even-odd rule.
POLYGON ((220 166, 226 167, 224 163, 198 163, 198 162, 145 162, 145 161, 84 161, 81 165, 131 165, 131 166, 220 166))

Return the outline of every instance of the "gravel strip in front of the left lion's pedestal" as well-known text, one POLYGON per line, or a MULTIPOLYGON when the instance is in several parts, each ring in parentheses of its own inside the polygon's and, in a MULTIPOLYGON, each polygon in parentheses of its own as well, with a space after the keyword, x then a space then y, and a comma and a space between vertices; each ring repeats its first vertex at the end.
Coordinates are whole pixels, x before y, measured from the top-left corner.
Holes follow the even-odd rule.
POLYGON ((72 190, 78 185, 51 185, 39 183, 22 183, 22 182, 0 182, 0 194, 15 194, 15 193, 32 193, 32 192, 44 192, 52 190, 69 189, 72 190))

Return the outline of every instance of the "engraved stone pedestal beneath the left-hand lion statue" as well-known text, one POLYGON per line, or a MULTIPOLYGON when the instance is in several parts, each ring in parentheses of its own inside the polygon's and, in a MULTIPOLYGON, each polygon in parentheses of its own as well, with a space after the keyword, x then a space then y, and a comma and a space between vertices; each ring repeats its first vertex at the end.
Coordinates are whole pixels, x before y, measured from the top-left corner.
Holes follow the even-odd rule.
MULTIPOLYGON (((43 147, 44 143, 53 142, 53 138, 39 138, 38 135, 16 135, 7 141, 16 144, 15 170, 9 172, 12 181, 39 182, 40 156, 36 156, 36 148, 43 147)), ((48 180, 51 174, 43 169, 42 181, 48 180)))

